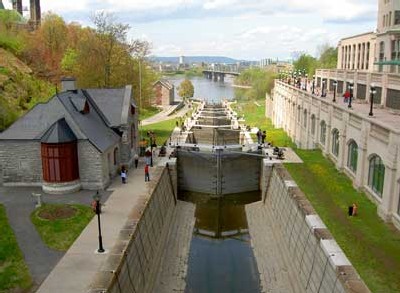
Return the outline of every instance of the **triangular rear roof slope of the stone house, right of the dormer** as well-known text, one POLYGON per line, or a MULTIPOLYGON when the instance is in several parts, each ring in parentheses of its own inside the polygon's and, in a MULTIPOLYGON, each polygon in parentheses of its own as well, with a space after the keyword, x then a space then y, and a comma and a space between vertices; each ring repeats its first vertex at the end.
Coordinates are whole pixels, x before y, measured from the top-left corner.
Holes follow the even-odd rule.
POLYGON ((88 89, 86 92, 107 117, 109 126, 118 127, 121 125, 125 88, 88 89))

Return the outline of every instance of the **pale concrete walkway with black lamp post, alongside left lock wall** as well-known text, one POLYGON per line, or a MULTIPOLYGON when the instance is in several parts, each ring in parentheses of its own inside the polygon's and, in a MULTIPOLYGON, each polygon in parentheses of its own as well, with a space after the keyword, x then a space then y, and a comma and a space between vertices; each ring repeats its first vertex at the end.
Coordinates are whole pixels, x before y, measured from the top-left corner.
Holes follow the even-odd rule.
MULTIPOLYGON (((155 158, 157 163, 157 158, 155 158)), ((156 164, 155 164, 156 165, 156 164)), ((120 230, 124 227, 129 214, 148 199, 151 182, 144 182, 144 165, 130 169, 127 184, 114 180, 108 188, 111 192, 104 212, 101 215, 103 246, 106 253, 98 254, 97 217, 89 223, 65 256, 50 273, 37 292, 70 293, 86 292, 102 263, 108 258, 108 251, 118 240, 120 230), (79 269, 79 274, 76 270, 79 269)), ((151 168, 150 178, 160 169, 151 168)))

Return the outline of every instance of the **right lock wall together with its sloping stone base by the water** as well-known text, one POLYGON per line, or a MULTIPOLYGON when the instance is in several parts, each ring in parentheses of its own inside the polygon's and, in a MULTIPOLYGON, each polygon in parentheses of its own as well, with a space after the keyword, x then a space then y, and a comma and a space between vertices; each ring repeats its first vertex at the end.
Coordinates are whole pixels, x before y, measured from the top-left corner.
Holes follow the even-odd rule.
POLYGON ((370 292, 282 165, 264 161, 261 187, 246 213, 263 292, 370 292))

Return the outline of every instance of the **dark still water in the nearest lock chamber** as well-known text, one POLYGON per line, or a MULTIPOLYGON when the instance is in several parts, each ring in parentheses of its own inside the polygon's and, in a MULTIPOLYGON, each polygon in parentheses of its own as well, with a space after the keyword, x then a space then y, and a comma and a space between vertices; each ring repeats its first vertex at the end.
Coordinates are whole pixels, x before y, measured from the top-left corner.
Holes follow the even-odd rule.
POLYGON ((218 199, 184 193, 182 199, 196 204, 186 293, 260 292, 244 209, 244 205, 260 200, 260 193, 218 199))

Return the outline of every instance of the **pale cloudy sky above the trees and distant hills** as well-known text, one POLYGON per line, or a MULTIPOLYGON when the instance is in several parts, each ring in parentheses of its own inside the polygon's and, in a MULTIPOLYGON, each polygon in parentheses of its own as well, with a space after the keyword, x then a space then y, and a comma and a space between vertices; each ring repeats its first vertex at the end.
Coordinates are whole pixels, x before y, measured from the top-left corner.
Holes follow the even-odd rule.
POLYGON ((112 12, 156 56, 260 60, 316 56, 323 44, 374 31, 378 0, 41 0, 41 7, 85 26, 96 11, 112 12))

